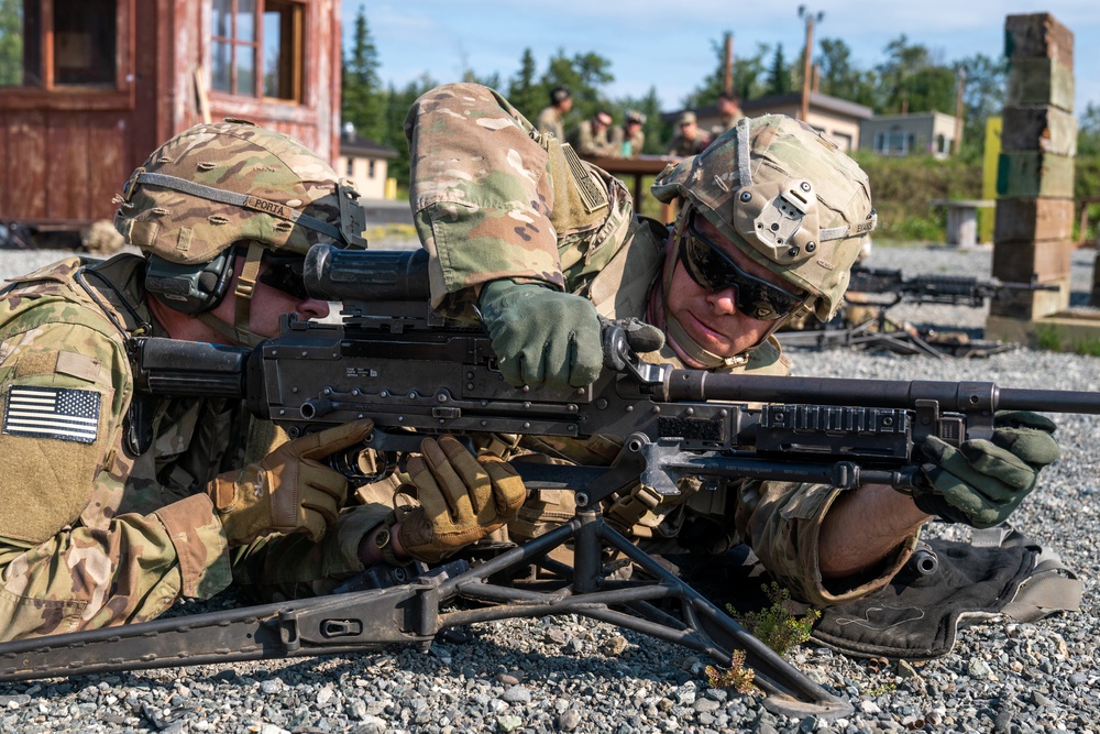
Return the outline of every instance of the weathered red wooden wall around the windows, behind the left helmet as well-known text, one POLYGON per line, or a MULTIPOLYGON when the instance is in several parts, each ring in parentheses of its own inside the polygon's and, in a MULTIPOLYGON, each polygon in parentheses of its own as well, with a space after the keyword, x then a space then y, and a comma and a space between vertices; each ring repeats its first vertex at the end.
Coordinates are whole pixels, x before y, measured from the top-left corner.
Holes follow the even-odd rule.
MULTIPOLYGON (((209 0, 118 0, 119 81, 107 91, 0 89, 0 218, 86 224, 160 143, 201 121, 195 70, 209 76, 209 0)), ((302 105, 210 94, 210 117, 244 118, 334 162, 340 2, 307 0, 302 105)))

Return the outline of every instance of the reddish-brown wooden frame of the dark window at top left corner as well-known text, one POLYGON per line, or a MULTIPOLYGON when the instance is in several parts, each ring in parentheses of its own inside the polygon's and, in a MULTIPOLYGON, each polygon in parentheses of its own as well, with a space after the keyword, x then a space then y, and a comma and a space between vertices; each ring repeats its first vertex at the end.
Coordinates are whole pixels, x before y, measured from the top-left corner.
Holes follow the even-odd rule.
MULTIPOLYGON (((0 87, 0 107, 9 110, 108 110, 135 106, 133 25, 136 0, 114 0, 114 83, 57 84, 54 66, 54 18, 59 3, 80 0, 33 0, 42 13, 38 43, 41 86, 0 87)), ((25 12, 25 4, 24 4, 25 12)))

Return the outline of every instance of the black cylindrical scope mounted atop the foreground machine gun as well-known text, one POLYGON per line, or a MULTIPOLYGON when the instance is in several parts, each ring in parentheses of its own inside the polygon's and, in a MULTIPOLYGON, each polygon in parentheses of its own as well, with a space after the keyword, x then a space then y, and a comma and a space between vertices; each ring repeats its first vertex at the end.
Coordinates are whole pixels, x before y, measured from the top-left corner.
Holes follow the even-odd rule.
POLYGON ((306 291, 328 300, 418 300, 427 303, 428 251, 340 250, 315 244, 302 270, 306 291))

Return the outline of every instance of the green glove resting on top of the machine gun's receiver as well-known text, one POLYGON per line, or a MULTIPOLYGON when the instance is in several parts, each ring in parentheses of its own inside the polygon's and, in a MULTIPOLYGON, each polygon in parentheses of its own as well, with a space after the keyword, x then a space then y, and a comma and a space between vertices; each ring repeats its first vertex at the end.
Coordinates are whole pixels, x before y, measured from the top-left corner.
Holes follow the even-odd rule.
POLYGON ((479 306, 509 384, 564 390, 600 376, 600 321, 587 298, 504 278, 482 287, 479 306))

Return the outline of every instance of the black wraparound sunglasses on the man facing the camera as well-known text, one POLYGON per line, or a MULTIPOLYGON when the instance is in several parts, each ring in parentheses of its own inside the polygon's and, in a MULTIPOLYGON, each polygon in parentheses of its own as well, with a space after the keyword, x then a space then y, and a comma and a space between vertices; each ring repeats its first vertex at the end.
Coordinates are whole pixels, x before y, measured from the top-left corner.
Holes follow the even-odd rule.
POLYGON ((680 235, 676 259, 700 287, 712 293, 732 287, 737 310, 760 321, 789 316, 806 299, 804 294, 784 291, 738 267, 718 245, 700 234, 694 217, 680 235))

